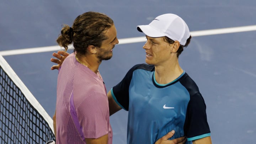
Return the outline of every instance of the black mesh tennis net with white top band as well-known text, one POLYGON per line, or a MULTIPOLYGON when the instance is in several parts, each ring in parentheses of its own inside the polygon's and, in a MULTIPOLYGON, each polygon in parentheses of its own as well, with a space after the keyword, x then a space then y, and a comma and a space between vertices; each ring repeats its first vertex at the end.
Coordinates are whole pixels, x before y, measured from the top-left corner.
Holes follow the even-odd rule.
POLYGON ((0 143, 55 140, 53 120, 0 55, 0 143))

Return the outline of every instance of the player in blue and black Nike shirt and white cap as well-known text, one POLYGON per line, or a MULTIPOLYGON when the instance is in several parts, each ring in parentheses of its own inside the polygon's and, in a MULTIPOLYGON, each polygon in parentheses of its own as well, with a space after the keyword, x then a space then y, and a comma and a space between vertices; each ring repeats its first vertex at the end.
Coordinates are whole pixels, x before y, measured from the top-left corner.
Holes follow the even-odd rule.
POLYGON ((178 63, 191 39, 187 24, 164 14, 137 29, 146 35, 147 64, 133 66, 108 92, 110 114, 128 111, 127 144, 153 144, 172 129, 170 139, 186 136, 187 144, 211 144, 204 99, 178 63))

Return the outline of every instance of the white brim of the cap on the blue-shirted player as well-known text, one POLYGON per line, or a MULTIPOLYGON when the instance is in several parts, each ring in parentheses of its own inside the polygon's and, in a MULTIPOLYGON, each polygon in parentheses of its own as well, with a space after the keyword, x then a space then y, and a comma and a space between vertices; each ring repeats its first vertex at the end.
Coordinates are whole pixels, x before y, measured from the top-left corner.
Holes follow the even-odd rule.
POLYGON ((137 26, 137 30, 145 33, 149 37, 163 37, 166 35, 165 33, 155 30, 155 28, 151 27, 150 25, 137 26))

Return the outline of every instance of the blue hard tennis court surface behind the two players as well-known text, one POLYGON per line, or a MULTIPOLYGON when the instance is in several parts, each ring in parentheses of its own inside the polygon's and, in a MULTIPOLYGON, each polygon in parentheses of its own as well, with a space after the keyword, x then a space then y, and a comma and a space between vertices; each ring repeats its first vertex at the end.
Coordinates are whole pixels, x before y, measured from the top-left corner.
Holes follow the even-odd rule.
MULTIPOLYGON (((212 142, 256 141, 256 1, 1 0, 0 54, 51 117, 58 71, 50 70, 50 58, 57 50, 46 49, 57 45, 63 24, 71 25, 87 11, 110 16, 119 41, 143 37, 137 25, 148 24, 158 15, 182 17, 192 39, 179 57, 180 64, 204 97, 212 142)), ((120 43, 113 49, 113 58, 101 63, 99 70, 107 90, 133 65, 145 63, 143 45, 120 43)), ((127 116, 128 112, 121 110, 110 117, 113 144, 126 144, 127 116)))

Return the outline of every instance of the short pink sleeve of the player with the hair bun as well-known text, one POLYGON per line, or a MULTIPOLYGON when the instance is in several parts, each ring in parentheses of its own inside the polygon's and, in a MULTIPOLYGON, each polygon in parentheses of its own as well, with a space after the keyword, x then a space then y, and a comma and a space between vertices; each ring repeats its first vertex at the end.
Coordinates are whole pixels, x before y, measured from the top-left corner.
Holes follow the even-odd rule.
POLYGON ((109 108, 106 95, 91 92, 76 108, 85 138, 99 138, 108 134, 109 108))

